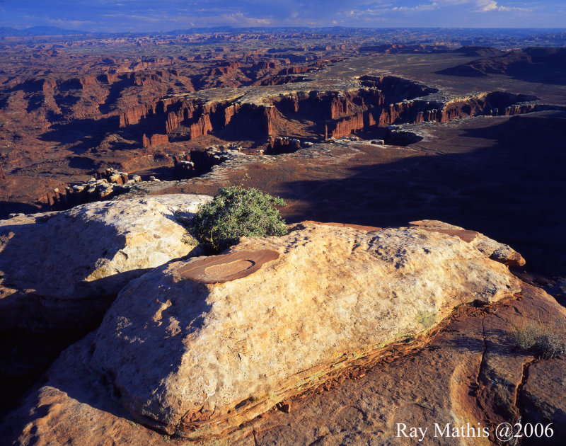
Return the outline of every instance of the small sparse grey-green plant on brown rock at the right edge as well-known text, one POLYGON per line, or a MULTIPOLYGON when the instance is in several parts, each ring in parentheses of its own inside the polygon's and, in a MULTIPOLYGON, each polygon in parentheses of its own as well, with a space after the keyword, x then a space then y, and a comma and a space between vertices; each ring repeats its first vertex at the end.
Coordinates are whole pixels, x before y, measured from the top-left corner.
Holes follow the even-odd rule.
POLYGON ((566 347, 560 335, 536 322, 514 325, 510 334, 516 348, 531 350, 541 358, 554 358, 565 353, 566 347))

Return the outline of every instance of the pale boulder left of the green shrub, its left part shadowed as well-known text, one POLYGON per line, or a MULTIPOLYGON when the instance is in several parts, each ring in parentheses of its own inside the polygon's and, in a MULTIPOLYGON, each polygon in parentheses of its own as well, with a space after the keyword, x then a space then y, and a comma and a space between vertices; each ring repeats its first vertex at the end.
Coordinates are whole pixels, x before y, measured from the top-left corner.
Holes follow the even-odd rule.
POLYGON ((45 330, 107 308, 130 280, 194 251, 175 215, 210 199, 161 195, 0 220, 0 326, 45 330))

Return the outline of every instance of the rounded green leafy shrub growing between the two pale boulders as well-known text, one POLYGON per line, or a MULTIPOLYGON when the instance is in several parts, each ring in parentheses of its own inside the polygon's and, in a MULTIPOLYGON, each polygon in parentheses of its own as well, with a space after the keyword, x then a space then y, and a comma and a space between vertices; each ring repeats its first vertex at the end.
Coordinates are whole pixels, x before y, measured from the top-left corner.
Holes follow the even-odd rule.
POLYGON ((209 251, 220 252, 243 236, 287 234, 276 206, 285 202, 241 185, 221 188, 214 199, 200 205, 197 214, 184 221, 190 235, 209 251))

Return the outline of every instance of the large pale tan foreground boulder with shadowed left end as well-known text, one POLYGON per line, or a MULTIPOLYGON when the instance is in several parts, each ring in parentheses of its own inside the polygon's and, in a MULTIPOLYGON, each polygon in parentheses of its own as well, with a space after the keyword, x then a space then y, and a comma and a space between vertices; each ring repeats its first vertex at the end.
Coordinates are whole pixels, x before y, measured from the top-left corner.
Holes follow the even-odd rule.
POLYGON ((131 282, 106 314, 91 366, 137 421, 188 438, 222 433, 458 304, 519 290, 472 244, 418 228, 304 222, 229 254, 238 251, 279 256, 248 275, 236 273, 251 269, 250 254, 169 263, 131 282), (222 282, 223 270, 240 278, 222 282))

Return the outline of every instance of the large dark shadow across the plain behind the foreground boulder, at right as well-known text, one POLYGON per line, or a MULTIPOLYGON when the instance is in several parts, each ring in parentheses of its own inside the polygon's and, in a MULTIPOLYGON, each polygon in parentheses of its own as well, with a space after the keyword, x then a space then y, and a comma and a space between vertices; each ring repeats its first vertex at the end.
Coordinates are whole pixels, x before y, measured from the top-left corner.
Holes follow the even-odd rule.
POLYGON ((282 198, 307 203, 287 221, 385 227, 439 219, 511 245, 538 273, 564 275, 566 114, 516 116, 461 136, 486 139, 487 147, 357 167, 340 180, 287 183, 282 198))

